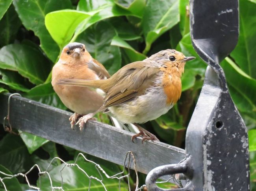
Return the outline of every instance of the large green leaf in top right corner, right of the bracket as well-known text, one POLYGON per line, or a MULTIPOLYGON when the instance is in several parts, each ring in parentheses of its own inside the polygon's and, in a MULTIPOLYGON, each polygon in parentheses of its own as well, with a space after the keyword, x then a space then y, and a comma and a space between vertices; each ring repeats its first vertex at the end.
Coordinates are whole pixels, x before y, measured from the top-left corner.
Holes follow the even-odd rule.
POLYGON ((240 0, 239 4, 239 39, 230 55, 245 73, 256 78, 256 4, 248 0, 240 0))

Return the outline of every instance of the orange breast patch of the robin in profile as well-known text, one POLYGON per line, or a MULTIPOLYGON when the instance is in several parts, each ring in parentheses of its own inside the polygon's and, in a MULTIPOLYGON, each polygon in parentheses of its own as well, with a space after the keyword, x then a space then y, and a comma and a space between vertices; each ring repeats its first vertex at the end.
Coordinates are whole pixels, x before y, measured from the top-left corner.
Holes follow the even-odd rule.
POLYGON ((163 90, 167 96, 166 103, 168 105, 175 104, 181 95, 181 80, 171 71, 164 69, 163 71, 163 90))

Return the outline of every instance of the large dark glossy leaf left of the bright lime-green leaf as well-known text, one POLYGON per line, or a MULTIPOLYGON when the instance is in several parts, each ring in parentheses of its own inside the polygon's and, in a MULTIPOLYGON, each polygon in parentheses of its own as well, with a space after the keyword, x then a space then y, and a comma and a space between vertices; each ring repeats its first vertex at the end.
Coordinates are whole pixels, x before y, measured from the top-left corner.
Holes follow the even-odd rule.
POLYGON ((22 24, 40 39, 40 46, 52 62, 59 55, 59 47, 45 27, 45 15, 52 11, 71 8, 70 0, 14 0, 13 4, 22 24))

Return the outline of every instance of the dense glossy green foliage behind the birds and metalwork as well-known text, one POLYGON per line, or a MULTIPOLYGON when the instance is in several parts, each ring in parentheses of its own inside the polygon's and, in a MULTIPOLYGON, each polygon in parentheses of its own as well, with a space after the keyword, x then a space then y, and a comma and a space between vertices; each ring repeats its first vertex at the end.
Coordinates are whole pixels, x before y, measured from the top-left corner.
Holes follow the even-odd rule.
MULTIPOLYGON (((145 126, 162 142, 184 148, 186 126, 206 70, 206 64, 191 45, 188 4, 189 0, 0 0, 0 92, 18 92, 67 109, 50 84, 52 66, 67 43, 84 43, 111 75, 123 65, 162 49, 177 49, 186 56, 197 57, 185 67, 180 101, 166 115, 145 126)), ((239 6, 239 41, 221 66, 232 99, 249 130, 251 190, 256 190, 256 1, 240 0, 239 6)), ((24 173, 33 164, 45 169, 53 157, 72 162, 77 153, 29 133, 17 136, 0 129, 0 171, 24 173)), ((117 165, 91 158, 107 164, 109 173, 120 171, 117 165)), ((90 173, 95 170, 82 160, 79 164, 90 173)), ((49 169, 55 186, 60 184, 58 173, 62 166, 54 162, 49 169)), ((65 190, 88 186, 88 180, 78 169, 65 171, 65 190)), ((29 176, 33 185, 39 185, 37 173, 32 171, 29 176)), ((144 184, 145 175, 139 176, 140 185, 144 184)), ((118 188, 117 181, 106 181, 112 185, 109 189, 118 188)), ((19 177, 5 183, 9 190, 27 188, 25 180, 19 177)), ((102 190, 97 182, 94 184, 92 190, 102 190)), ((47 178, 41 177, 42 189, 49 190, 48 186, 47 178)), ((126 190, 127 182, 122 181, 121 187, 126 190)))

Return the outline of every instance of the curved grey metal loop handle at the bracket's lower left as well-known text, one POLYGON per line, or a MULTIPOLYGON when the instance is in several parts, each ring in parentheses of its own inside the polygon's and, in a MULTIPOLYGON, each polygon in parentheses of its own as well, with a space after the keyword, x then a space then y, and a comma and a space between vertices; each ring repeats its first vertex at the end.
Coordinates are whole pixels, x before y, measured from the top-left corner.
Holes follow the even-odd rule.
POLYGON ((181 164, 167 164, 163 166, 156 167, 152 169, 146 178, 146 185, 148 191, 187 191, 189 185, 187 185, 184 188, 178 188, 178 189, 162 189, 156 185, 156 180, 164 175, 174 175, 177 173, 186 173, 187 172, 187 165, 186 163, 181 164))

